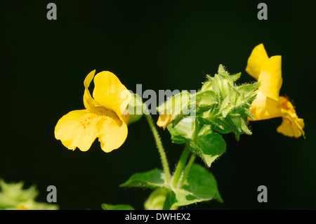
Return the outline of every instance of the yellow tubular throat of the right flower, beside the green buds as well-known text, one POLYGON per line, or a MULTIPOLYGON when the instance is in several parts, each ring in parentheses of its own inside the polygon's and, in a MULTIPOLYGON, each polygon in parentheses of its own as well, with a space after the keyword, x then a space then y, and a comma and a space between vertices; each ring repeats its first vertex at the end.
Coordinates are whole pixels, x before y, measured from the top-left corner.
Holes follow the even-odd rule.
POLYGON ((251 103, 251 107, 249 108, 256 121, 282 117, 281 109, 277 107, 279 102, 268 98, 261 91, 256 91, 256 93, 256 99, 251 103))

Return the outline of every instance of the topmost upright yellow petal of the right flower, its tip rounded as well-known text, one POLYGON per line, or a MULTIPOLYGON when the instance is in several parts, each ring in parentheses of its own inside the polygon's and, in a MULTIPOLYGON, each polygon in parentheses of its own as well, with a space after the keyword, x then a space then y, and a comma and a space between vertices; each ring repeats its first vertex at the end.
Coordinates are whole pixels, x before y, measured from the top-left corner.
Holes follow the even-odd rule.
POLYGON ((261 67, 269 59, 265 47, 263 44, 259 44, 251 52, 248 58, 246 72, 248 72, 252 77, 258 80, 259 74, 261 72, 261 67))

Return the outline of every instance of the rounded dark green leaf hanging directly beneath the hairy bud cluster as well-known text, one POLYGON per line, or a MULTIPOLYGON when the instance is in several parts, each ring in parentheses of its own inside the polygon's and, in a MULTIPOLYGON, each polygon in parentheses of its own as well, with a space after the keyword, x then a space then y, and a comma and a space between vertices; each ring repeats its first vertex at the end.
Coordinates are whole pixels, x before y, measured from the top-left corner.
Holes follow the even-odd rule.
POLYGON ((187 146, 201 157, 207 166, 226 150, 226 143, 219 133, 199 134, 196 141, 187 139, 187 146))

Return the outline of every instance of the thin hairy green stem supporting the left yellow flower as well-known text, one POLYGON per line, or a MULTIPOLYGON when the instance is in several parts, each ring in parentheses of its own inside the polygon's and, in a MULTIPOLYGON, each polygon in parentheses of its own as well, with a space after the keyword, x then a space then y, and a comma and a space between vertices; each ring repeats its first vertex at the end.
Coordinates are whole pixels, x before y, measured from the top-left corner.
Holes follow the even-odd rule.
POLYGON ((168 161, 166 159, 166 153, 164 152, 164 147, 162 146, 162 141, 160 140, 159 133, 156 127, 154 126, 154 122, 152 121, 152 117, 150 116, 150 112, 148 111, 147 105, 145 105, 145 103, 144 103, 144 110, 146 110, 146 113, 144 112, 144 115, 148 121, 150 129, 152 130, 152 133, 154 135, 154 140, 156 140, 156 143, 157 143, 160 157, 162 158, 162 166, 164 168, 164 173, 166 175, 166 183, 170 184, 170 171, 169 171, 168 161))

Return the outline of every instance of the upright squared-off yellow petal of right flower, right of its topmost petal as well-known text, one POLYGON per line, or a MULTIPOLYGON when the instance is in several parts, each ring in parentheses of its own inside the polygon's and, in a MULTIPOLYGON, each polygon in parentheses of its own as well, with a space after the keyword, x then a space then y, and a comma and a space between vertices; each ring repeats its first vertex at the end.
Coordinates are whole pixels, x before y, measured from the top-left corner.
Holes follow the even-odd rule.
POLYGON ((281 56, 272 56, 261 68, 258 77, 259 90, 268 98, 279 101, 279 89, 282 86, 281 56))

